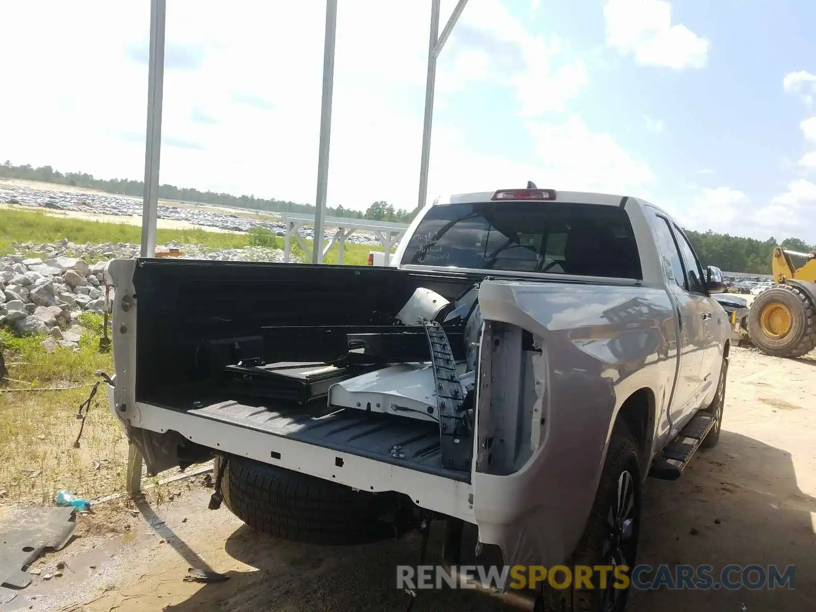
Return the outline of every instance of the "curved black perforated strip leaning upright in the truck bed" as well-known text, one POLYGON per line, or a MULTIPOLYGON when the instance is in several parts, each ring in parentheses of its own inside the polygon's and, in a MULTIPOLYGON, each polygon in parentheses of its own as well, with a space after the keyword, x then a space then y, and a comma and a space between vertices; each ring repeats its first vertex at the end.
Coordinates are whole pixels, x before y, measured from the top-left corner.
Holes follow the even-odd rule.
POLYGON ((466 392, 456 375, 456 361, 445 330, 439 323, 428 319, 423 319, 422 323, 431 348, 442 465, 467 470, 472 459, 472 432, 468 416, 462 410, 466 392))

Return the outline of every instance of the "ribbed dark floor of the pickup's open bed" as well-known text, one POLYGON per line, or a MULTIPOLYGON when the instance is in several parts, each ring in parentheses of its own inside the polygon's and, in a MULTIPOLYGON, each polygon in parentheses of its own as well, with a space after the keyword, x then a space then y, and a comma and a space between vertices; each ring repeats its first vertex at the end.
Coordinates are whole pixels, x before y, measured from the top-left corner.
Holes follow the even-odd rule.
MULTIPOLYGON (((271 406, 250 398, 237 400, 213 389, 207 393, 205 401, 201 398, 202 388, 198 387, 194 391, 165 392, 161 403, 151 403, 202 419, 254 429, 270 436, 286 437, 451 480, 469 480, 469 472, 442 467, 439 425, 436 423, 353 408, 333 409, 326 406, 325 397, 305 406, 271 406), (394 446, 401 446, 400 453, 404 457, 392 456, 394 446)), ((269 441, 269 450, 274 458, 273 440, 269 441)))

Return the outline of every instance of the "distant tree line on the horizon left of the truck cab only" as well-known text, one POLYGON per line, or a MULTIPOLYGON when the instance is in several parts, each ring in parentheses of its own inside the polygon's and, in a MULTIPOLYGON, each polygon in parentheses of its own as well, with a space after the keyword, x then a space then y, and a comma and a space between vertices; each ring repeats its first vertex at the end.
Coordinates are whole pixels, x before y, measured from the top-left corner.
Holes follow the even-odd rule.
MULTIPOLYGON (((51 166, 33 167, 30 164, 15 166, 7 160, 0 166, 0 178, 38 180, 43 183, 70 185, 72 187, 96 189, 107 193, 117 193, 123 196, 142 197, 144 182, 129 179, 97 179, 94 175, 85 172, 60 172, 51 166)), ((299 204, 274 198, 264 199, 254 195, 233 196, 230 193, 216 193, 214 191, 199 191, 193 188, 176 187, 175 185, 159 185, 158 197, 163 200, 179 200, 181 202, 197 202, 228 206, 231 208, 247 208, 254 211, 295 212, 313 215, 313 204, 299 204)), ((393 223, 407 223, 415 216, 415 212, 395 210, 387 202, 374 202, 368 210, 352 211, 343 206, 327 207, 326 215, 331 217, 345 217, 351 219, 370 219, 391 221, 393 223)))

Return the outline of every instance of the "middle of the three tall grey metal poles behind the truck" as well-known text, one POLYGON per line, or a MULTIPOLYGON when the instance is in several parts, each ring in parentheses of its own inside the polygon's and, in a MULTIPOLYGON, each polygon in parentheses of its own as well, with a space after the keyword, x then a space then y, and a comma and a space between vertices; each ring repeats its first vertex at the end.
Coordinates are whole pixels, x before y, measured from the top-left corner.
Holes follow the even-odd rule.
MULTIPOLYGON (((438 0, 436 0, 438 2, 438 0)), ((329 142, 331 138, 331 94, 335 86, 335 33, 337 0, 326 0, 326 39, 323 42, 323 97, 320 112, 320 147, 317 157, 317 197, 314 211, 312 263, 323 259, 323 218, 326 216, 326 188, 329 182, 329 142)))

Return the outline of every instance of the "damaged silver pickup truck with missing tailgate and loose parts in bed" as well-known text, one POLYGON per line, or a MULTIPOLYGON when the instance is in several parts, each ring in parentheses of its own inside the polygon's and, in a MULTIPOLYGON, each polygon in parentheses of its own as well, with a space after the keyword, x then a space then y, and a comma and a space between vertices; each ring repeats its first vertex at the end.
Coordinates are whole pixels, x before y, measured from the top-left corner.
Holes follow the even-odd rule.
MULTIPOLYGON (((441 520, 452 570, 468 531, 504 566, 631 567, 646 477, 680 477, 720 435, 725 286, 636 197, 437 199, 388 267, 122 259, 107 275, 109 400, 149 473, 215 456, 211 508, 285 539, 441 520)), ((623 610, 610 585, 492 589, 623 610)))

